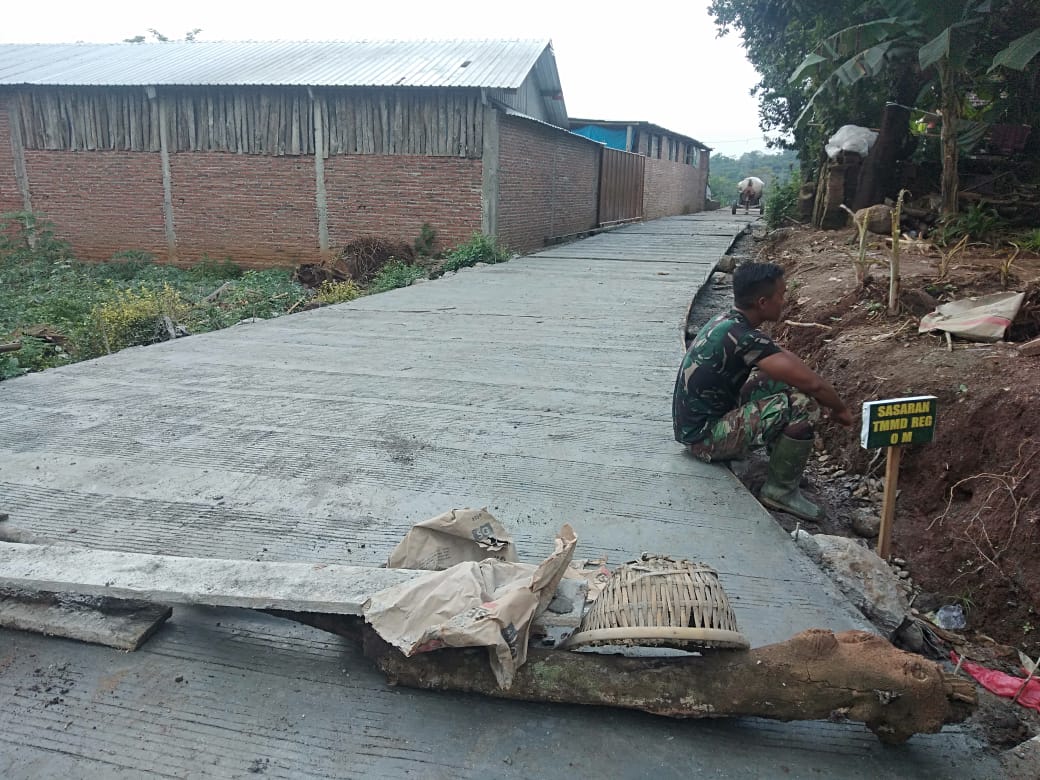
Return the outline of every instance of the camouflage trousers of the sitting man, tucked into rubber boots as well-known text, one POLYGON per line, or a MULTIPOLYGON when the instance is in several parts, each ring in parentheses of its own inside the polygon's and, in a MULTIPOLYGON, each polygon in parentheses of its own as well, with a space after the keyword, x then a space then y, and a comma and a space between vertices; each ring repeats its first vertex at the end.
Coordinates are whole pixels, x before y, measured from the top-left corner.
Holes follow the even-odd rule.
POLYGON ((732 461, 771 444, 788 425, 818 419, 820 409, 808 395, 756 373, 740 390, 740 406, 709 422, 690 451, 707 463, 732 461))

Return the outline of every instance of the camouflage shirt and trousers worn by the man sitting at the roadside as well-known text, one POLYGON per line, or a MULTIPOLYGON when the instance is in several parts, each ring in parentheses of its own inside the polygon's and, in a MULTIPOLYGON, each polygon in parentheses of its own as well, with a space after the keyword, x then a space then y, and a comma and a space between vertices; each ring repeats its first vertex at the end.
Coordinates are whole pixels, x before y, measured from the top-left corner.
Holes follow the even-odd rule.
POLYGON ((749 382, 758 361, 779 352, 736 309, 708 321, 675 378, 675 440, 702 461, 728 461, 770 444, 791 423, 818 419, 805 393, 757 372, 749 382))

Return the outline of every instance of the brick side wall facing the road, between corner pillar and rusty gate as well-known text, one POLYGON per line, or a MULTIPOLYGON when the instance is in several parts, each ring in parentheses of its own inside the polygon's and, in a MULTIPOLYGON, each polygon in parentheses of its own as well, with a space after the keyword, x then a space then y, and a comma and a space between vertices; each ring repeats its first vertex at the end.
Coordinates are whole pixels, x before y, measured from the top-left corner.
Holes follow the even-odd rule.
POLYGON ((518 252, 596 227, 599 146, 529 120, 501 116, 498 237, 518 252))

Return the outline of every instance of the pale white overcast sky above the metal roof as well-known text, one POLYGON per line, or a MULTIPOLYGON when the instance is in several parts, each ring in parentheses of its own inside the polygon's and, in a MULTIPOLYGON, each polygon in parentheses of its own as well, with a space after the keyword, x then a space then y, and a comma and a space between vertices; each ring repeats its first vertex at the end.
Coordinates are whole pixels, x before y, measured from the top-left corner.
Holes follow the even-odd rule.
POLYGON ((115 0, 11 4, 0 43, 116 43, 152 27, 205 41, 550 38, 571 116, 642 120, 717 154, 764 150, 757 81, 736 35, 716 37, 707 0, 619 6, 567 0, 115 0))

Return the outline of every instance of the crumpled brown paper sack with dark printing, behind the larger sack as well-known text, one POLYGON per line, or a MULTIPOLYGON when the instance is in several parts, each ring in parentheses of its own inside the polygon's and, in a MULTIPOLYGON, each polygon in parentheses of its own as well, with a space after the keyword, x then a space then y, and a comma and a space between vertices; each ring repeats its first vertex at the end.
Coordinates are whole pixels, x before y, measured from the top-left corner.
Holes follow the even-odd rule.
POLYGON ((451 510, 416 523, 390 553, 390 569, 441 571, 464 561, 517 560, 513 538, 486 510, 451 510))

